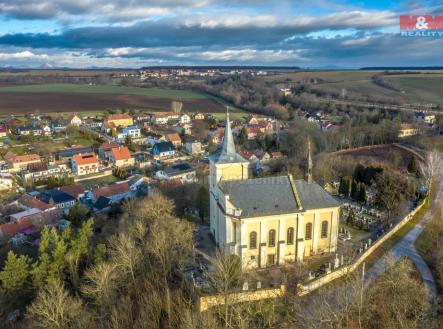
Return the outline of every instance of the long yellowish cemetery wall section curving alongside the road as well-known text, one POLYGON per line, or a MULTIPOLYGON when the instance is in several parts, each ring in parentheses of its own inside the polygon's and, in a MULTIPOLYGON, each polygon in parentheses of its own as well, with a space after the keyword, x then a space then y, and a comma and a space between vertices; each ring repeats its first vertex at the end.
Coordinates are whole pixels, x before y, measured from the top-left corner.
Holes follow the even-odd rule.
POLYGON ((406 223, 408 223, 412 218, 414 218, 415 214, 423 207, 426 200, 424 200, 417 208, 412 210, 409 214, 407 214, 397 225, 395 225, 389 232, 387 232, 384 236, 378 239, 374 244, 372 244, 367 250, 365 250, 354 263, 346 266, 342 266, 335 271, 332 271, 329 274, 321 276, 317 279, 314 279, 306 284, 299 284, 298 295, 304 296, 312 291, 324 286, 325 284, 338 279, 347 273, 355 271, 381 244, 383 244, 386 240, 391 238, 398 230, 400 230, 406 223))

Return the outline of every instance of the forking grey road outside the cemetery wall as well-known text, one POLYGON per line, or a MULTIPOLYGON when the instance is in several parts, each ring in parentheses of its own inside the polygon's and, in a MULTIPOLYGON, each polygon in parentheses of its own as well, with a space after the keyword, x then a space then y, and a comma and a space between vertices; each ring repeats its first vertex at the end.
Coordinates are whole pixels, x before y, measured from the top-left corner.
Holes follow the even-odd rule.
POLYGON ((389 260, 394 258, 398 260, 402 257, 408 257, 417 267, 420 275, 422 277, 423 283, 425 284, 426 293, 428 296, 428 301, 432 306, 432 313, 436 316, 437 312, 437 284, 432 272, 426 262, 423 260, 421 255, 415 249, 415 241, 423 232, 423 229, 428 224, 432 218, 432 213, 435 207, 441 207, 442 201, 442 190, 443 181, 440 182, 440 188, 437 195, 433 201, 432 207, 424 214, 423 218, 411 229, 408 234, 406 234, 403 239, 401 239, 397 244, 395 244, 391 250, 381 257, 367 272, 366 272, 366 284, 368 285, 374 279, 382 275, 386 270, 389 269, 389 260))

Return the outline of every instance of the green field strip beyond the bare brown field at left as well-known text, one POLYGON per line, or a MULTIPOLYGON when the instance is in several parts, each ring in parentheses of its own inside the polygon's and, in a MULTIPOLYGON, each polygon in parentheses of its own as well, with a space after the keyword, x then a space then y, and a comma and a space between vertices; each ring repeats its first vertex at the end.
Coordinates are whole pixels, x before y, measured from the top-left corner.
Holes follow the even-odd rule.
POLYGON ((0 92, 14 93, 100 93, 100 94, 129 94, 147 97, 179 98, 179 99, 204 99, 211 96, 190 91, 161 88, 137 88, 113 85, 87 85, 87 84, 41 84, 1 87, 0 92))

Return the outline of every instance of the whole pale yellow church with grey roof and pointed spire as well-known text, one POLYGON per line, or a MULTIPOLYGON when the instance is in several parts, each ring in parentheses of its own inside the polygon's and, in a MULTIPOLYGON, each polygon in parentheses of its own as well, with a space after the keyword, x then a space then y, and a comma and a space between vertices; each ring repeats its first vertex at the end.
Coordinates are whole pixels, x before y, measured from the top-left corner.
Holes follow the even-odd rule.
MULTIPOLYGON (((310 147, 309 147, 310 149, 310 147)), ((340 204, 312 179, 249 178, 226 114, 221 150, 209 158, 210 230, 244 269, 283 265, 335 252, 340 204)))

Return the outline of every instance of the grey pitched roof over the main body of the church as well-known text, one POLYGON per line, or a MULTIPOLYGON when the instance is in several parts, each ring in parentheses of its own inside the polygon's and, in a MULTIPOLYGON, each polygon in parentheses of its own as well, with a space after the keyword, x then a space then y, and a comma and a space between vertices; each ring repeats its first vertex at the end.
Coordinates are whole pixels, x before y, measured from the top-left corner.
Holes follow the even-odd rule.
POLYGON ((340 205, 315 182, 308 184, 305 180, 296 180, 292 185, 291 181, 290 176, 277 176, 221 181, 219 186, 225 195, 229 195, 229 201, 242 210, 240 217, 243 218, 296 213, 340 205))

